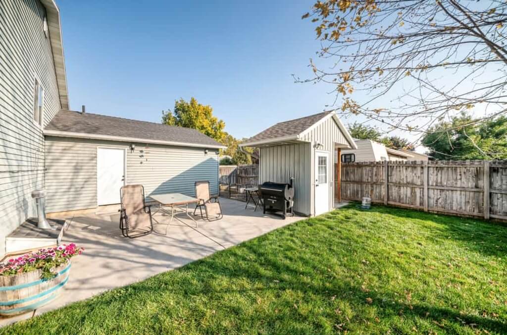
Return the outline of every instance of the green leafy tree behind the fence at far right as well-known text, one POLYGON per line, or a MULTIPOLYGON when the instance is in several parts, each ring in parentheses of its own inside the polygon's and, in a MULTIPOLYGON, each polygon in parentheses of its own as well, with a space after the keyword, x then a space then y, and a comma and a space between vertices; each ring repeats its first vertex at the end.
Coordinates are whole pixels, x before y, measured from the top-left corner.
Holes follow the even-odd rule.
POLYGON ((507 159, 507 117, 478 122, 462 113, 431 127, 422 145, 436 159, 507 159))

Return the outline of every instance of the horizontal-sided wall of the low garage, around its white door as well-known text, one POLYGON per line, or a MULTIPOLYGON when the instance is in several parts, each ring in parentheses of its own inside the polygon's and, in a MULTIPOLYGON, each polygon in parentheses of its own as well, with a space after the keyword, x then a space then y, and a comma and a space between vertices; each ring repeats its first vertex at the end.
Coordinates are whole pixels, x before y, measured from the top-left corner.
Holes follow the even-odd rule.
MULTIPOLYGON (((194 183, 209 180, 218 194, 216 149, 130 142, 46 138, 46 206, 48 212, 97 207, 97 147, 126 148, 126 184, 142 184, 148 196, 178 192, 194 196, 194 183)), ((120 190, 118 190, 120 192, 120 190)))

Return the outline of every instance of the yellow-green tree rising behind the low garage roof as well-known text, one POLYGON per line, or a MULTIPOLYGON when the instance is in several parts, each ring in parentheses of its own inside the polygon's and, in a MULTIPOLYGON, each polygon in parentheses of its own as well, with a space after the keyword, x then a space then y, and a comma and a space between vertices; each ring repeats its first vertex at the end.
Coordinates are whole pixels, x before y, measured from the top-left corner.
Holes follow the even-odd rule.
POLYGON ((197 129, 218 142, 222 142, 226 135, 225 122, 213 116, 211 106, 199 104, 194 97, 190 102, 180 98, 174 103, 173 112, 162 111, 162 123, 197 129))

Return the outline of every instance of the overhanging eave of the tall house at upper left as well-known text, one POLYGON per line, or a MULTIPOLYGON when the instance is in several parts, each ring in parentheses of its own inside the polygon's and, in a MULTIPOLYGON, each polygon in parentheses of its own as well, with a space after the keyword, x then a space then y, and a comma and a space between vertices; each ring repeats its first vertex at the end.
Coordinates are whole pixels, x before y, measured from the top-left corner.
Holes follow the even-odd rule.
POLYGON ((67 75, 65 72, 65 59, 63 56, 63 41, 60 22, 60 10, 54 0, 41 0, 46 8, 46 19, 48 21, 49 41, 53 64, 55 66, 56 84, 58 85, 58 96, 60 97, 60 108, 68 109, 67 75))

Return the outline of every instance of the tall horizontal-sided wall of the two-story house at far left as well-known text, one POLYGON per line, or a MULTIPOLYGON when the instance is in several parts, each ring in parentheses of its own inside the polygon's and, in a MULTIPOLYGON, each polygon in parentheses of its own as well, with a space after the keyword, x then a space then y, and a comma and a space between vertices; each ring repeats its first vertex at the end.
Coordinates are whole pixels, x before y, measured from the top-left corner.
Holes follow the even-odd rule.
POLYGON ((5 236, 37 215, 30 193, 44 187, 44 137, 33 122, 34 75, 44 88, 43 125, 60 110, 45 12, 38 0, 0 1, 0 255, 5 236))

